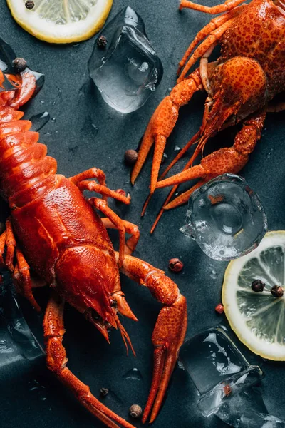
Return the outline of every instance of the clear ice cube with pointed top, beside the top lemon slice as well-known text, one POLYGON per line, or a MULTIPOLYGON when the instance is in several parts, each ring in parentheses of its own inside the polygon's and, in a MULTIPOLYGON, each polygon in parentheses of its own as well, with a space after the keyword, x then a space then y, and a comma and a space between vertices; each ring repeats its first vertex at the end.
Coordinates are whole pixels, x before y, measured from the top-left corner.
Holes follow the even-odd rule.
POLYGON ((88 63, 90 77, 109 106, 121 113, 135 111, 160 83, 160 58, 147 39, 142 19, 130 6, 101 35, 106 37, 108 49, 98 49, 95 42, 88 63))

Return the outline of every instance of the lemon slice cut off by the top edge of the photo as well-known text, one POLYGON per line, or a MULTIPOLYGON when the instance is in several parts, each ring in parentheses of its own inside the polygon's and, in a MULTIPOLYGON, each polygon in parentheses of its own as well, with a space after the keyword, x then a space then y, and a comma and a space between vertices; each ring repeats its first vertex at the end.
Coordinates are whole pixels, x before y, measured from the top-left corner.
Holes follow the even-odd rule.
POLYGON ((7 0, 16 22, 28 33, 50 43, 89 39, 105 23, 113 0, 7 0))

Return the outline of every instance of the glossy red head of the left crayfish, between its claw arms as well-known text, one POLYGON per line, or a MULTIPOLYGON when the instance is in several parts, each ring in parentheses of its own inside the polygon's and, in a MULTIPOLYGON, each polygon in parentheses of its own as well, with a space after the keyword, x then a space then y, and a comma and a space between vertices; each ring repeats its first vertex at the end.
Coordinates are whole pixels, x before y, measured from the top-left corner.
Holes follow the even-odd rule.
MULTIPOLYGON (((108 251, 92 245, 67 248, 56 263, 55 273, 58 291, 70 305, 86 315, 108 342, 108 330, 119 329, 125 345, 128 342, 133 350, 118 317, 122 302, 124 309, 128 304, 123 293, 115 291, 120 290, 120 276, 115 258, 108 251)), ((130 311, 129 317, 132 314, 130 311)))

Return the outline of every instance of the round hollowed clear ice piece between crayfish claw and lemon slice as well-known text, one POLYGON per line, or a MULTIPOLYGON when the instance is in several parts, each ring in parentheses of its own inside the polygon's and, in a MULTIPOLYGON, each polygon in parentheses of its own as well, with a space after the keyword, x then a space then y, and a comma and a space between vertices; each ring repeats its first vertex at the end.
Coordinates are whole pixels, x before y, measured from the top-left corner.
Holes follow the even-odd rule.
POLYGON ((244 178, 224 174, 190 196, 182 233, 215 260, 239 258, 257 248, 267 230, 259 197, 244 178))

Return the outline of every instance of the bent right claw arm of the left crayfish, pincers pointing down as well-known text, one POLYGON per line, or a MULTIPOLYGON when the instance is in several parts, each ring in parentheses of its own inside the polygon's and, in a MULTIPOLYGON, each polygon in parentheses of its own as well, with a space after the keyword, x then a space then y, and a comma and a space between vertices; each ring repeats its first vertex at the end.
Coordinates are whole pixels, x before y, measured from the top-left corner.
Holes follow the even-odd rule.
MULTIPOLYGON (((119 255, 116 253, 118 262, 119 255)), ((150 415, 150 423, 157 417, 165 396, 170 377, 177 362, 178 351, 183 343, 187 327, 186 299, 180 294, 175 282, 149 263, 130 255, 125 256, 121 271, 147 287, 164 306, 157 317, 152 333, 154 367, 152 385, 145 406, 142 423, 150 415)))

